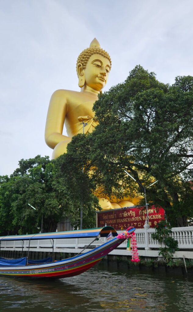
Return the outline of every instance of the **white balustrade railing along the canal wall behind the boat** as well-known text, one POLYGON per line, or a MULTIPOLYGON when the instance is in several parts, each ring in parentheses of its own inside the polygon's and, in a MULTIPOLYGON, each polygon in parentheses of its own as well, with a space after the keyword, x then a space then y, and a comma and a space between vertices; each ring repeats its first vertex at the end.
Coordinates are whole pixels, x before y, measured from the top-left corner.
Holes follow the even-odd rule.
MULTIPOLYGON (((178 241, 179 249, 193 249, 193 227, 173 227, 171 236, 178 241)), ((121 233, 122 231, 117 231, 121 233)), ((158 249, 161 247, 158 241, 152 239, 152 233, 155 229, 149 228, 146 224, 143 229, 136 229, 137 246, 140 249, 158 249)), ((83 248, 92 243, 93 238, 66 238, 55 239, 54 248, 83 248)), ((98 241, 93 241, 91 246, 100 246, 106 242, 105 237, 101 237, 98 241)), ((23 248, 29 246, 29 241, 1 241, 1 248, 23 248)), ((30 241, 30 248, 52 248, 53 241, 50 239, 30 241)), ((125 248, 124 241, 118 248, 125 248)))

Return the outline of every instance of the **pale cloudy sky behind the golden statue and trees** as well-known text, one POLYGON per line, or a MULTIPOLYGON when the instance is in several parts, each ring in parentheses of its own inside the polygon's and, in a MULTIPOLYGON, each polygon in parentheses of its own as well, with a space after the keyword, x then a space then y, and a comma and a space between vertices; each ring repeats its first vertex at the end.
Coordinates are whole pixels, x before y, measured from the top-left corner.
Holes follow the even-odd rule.
POLYGON ((138 64, 163 83, 193 76, 192 16, 192 0, 0 0, 0 175, 51 158, 50 97, 80 90, 77 57, 94 37, 112 60, 104 91, 138 64))

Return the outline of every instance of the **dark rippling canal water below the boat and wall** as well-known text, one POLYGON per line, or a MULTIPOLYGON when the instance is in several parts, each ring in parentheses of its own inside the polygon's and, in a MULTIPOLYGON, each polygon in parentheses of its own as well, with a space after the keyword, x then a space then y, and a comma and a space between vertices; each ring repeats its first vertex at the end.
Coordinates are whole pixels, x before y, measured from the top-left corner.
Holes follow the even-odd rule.
POLYGON ((193 278, 98 265, 60 280, 0 276, 0 312, 191 312, 193 278))

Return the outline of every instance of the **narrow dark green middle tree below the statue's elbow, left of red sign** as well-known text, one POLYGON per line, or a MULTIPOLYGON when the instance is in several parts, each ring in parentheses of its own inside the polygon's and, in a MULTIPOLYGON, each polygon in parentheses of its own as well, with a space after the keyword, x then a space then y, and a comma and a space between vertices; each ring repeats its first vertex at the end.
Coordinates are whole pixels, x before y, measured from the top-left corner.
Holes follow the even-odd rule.
POLYGON ((86 137, 81 134, 75 136, 73 138, 75 145, 69 144, 68 153, 54 161, 56 167, 54 188, 57 190, 61 203, 63 194, 65 192, 68 194, 68 202, 63 206, 65 206, 65 215, 70 218, 75 228, 80 228, 81 207, 83 209, 82 228, 96 226, 96 209, 100 209, 98 199, 93 194, 96 188, 95 181, 90 178, 89 170, 86 170, 87 149, 81 149, 85 139, 86 137), (75 150, 74 146, 76 146, 75 150))

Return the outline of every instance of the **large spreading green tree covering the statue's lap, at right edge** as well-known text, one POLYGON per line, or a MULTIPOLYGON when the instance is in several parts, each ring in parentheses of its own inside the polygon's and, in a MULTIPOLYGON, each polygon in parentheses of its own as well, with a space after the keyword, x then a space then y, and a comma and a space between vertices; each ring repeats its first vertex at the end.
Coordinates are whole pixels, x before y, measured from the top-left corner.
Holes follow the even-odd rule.
POLYGON ((193 77, 167 85, 136 66, 99 95, 93 110, 96 130, 68 144, 76 166, 84 166, 101 195, 143 194, 124 170, 146 186, 158 180, 147 189, 148 201, 165 208, 172 226, 186 226, 193 215, 193 77))

